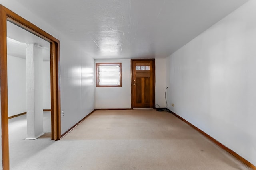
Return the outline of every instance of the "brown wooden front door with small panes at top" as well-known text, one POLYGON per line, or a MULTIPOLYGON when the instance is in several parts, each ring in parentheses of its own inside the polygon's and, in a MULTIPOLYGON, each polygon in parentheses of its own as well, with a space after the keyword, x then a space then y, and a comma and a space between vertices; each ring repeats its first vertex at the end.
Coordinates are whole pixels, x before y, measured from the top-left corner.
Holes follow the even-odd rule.
POLYGON ((155 108, 155 59, 132 59, 132 108, 155 108))

